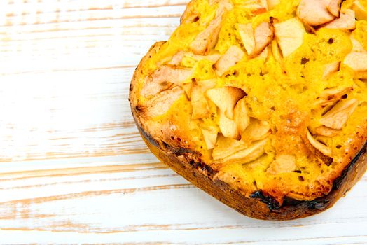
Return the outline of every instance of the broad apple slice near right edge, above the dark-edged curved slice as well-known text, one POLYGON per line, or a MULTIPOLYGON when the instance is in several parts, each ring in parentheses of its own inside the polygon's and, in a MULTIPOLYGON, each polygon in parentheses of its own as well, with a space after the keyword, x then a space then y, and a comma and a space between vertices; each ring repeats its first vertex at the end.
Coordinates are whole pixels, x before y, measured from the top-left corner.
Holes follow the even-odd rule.
POLYGON ((357 99, 342 99, 335 104, 330 111, 325 113, 325 115, 320 118, 319 122, 334 130, 341 130, 342 126, 347 122, 358 104, 359 102, 357 99))

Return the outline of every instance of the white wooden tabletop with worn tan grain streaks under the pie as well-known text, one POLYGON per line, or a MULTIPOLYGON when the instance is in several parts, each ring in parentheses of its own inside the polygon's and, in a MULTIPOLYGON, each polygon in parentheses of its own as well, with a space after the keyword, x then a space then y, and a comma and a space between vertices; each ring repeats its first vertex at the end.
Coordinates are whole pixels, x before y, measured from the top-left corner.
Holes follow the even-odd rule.
POLYGON ((127 101, 187 0, 0 1, 0 243, 367 244, 367 176, 333 209, 256 221, 148 151, 127 101))

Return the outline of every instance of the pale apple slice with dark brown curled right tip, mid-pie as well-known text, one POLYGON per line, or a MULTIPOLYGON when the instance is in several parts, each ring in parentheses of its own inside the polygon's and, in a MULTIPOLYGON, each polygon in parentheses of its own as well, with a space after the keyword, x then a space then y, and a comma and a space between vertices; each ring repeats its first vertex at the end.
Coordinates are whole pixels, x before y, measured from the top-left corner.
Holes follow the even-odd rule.
POLYGON ((233 119, 235 104, 242 99, 246 93, 238 87, 217 87, 207 91, 207 97, 219 107, 227 118, 233 119))

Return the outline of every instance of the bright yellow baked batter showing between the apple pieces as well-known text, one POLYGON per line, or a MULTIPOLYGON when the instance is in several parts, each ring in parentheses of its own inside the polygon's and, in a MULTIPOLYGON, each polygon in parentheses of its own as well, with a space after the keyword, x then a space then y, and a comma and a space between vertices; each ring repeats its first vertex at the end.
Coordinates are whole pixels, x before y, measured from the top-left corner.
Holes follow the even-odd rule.
MULTIPOLYGON (((279 22, 294 18, 299 3, 297 0, 282 0, 274 9, 256 15, 242 6, 243 1, 232 2, 233 10, 224 15, 219 41, 211 52, 224 54, 230 45, 237 45, 244 50, 236 29, 237 24, 251 22, 253 27, 256 27, 261 22, 269 22, 270 17, 277 18, 279 22)), ((345 1, 343 8, 348 8, 351 4, 352 1, 345 1)), ((364 1, 363 4, 366 5, 364 1)), ((180 25, 174 31, 169 41, 145 64, 143 70, 146 75, 157 69, 157 64, 162 59, 172 57, 180 50, 188 51, 188 45, 195 36, 214 18, 217 4, 211 6, 207 0, 198 0, 193 3, 193 8, 200 13, 199 21, 180 25)), ((197 81, 214 78, 217 79, 217 87, 229 85, 242 88, 247 93, 245 98, 250 116, 270 123, 272 134, 265 146, 265 154, 245 165, 230 162, 224 165, 218 164, 220 169, 218 178, 246 190, 247 193, 262 189, 268 190, 270 194, 289 195, 300 200, 312 200, 330 190, 331 181, 349 162, 345 161, 345 152, 348 151, 349 144, 355 139, 356 132, 361 127, 366 127, 366 81, 358 80, 354 71, 343 64, 340 71, 326 79, 322 78, 326 64, 342 62, 351 52, 350 35, 347 31, 320 28, 314 34, 304 34, 303 44, 289 57, 284 57, 283 64, 273 57, 272 52, 269 52, 267 59, 260 57, 250 59, 245 55, 221 77, 216 75, 213 63, 208 60, 197 62, 190 57, 182 60, 181 66, 194 69, 193 78, 197 81), (323 90, 332 87, 353 87, 348 93, 348 99, 358 99, 359 106, 338 136, 319 137, 319 140, 332 150, 333 164, 327 166, 320 164, 310 155, 303 146, 301 137, 306 127, 312 130, 321 125, 319 118, 324 109, 314 106, 314 102, 323 90), (284 128, 287 123, 295 124, 295 132, 286 132, 284 128), (280 174, 266 172, 279 153, 296 155, 296 172, 280 174), (325 188, 318 190, 315 187, 320 185, 325 188)), ((352 35, 367 49, 367 21, 356 21, 356 30, 352 35)), ((186 82, 191 83, 191 80, 186 82)), ((141 98, 141 101, 144 101, 144 98, 141 98)), ((152 120, 163 124, 175 118, 172 121, 186 124, 185 129, 188 130, 186 133, 195 142, 194 150, 202 153, 202 158, 211 163, 211 151, 207 151, 200 131, 202 125, 218 126, 216 107, 210 104, 210 109, 212 116, 191 120, 191 104, 188 97, 183 94, 167 113, 152 120)))

